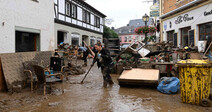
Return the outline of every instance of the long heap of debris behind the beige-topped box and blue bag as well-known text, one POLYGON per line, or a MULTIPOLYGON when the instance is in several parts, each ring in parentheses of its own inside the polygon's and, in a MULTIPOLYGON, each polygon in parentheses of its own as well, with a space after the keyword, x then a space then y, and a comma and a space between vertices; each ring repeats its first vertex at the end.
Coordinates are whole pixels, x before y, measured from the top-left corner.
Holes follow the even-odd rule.
MULTIPOLYGON (((171 71, 173 76, 176 76, 177 69, 174 64, 179 60, 186 59, 203 59, 197 47, 178 48, 171 43, 153 43, 142 46, 141 42, 131 44, 127 49, 116 57, 116 73, 120 74, 123 67, 139 67, 139 68, 155 68, 159 69, 160 73, 171 71), (131 48, 130 48, 131 47, 131 48), (139 49, 145 48, 149 50, 145 56, 139 52, 139 49), (168 70, 170 69, 170 70, 168 70)), ((140 50, 141 51, 141 50, 140 50)))

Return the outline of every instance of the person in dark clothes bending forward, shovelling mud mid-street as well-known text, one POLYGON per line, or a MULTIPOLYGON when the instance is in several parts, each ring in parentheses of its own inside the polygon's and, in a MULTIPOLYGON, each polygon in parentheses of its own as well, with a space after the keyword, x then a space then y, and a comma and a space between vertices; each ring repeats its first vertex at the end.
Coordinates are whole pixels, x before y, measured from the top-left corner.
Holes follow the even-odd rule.
POLYGON ((107 49, 102 48, 100 42, 96 43, 94 48, 96 49, 96 52, 93 64, 91 66, 93 66, 95 62, 97 62, 98 68, 101 67, 101 72, 104 79, 103 86, 107 87, 108 84, 112 85, 113 81, 110 76, 110 68, 113 65, 113 61, 110 57, 110 52, 107 49))

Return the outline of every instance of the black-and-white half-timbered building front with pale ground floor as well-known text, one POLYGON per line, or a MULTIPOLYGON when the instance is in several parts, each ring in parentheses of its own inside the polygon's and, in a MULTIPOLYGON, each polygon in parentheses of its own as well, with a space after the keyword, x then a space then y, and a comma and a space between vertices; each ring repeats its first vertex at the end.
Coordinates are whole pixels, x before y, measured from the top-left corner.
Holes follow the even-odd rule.
POLYGON ((103 40, 105 15, 82 0, 54 0, 55 45, 93 46, 103 40))

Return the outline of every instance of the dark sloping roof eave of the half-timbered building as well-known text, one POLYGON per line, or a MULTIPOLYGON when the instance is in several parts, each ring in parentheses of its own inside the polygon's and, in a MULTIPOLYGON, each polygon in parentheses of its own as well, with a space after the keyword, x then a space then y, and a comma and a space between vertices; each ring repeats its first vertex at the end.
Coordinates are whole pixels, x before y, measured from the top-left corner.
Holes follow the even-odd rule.
POLYGON ((84 0, 73 0, 73 1, 75 1, 76 3, 78 3, 78 4, 80 4, 80 5, 84 6, 84 7, 87 7, 87 9, 90 9, 91 11, 99 14, 100 16, 102 16, 104 18, 107 17, 106 15, 104 15, 103 13, 101 13, 100 11, 98 11, 97 9, 95 9, 94 7, 89 5, 88 3, 84 2, 84 0))

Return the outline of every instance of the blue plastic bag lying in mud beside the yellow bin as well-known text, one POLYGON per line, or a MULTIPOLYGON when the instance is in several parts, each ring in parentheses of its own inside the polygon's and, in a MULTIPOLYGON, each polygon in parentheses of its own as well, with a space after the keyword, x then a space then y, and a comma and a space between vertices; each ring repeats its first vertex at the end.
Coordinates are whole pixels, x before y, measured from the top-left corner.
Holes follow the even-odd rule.
POLYGON ((180 89, 180 80, 177 77, 162 77, 157 90, 165 94, 177 93, 180 89))

